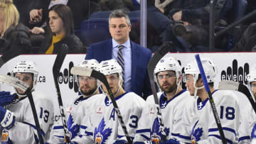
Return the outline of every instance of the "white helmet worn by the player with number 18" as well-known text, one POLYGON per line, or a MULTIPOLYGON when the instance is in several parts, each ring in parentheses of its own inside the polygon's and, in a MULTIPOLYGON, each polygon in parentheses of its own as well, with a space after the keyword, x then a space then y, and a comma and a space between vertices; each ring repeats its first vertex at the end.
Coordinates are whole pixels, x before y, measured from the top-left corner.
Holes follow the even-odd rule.
MULTIPOLYGON (((215 76, 217 74, 217 66, 213 63, 212 60, 206 57, 202 57, 201 62, 203 65, 203 70, 206 73, 207 82, 208 83, 214 82, 215 76)), ((192 62, 188 62, 188 64, 185 67, 185 74, 192 74, 193 79, 198 80, 200 71, 198 69, 196 60, 193 60, 192 62)))

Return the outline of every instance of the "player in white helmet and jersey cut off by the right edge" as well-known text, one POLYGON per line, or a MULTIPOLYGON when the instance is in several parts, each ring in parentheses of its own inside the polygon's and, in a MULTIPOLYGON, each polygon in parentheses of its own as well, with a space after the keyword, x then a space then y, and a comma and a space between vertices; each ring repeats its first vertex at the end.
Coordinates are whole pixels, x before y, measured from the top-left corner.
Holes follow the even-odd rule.
MULTIPOLYGON (((253 65, 250 73, 247 74, 247 81, 252 91, 254 98, 256 98, 256 65, 253 65)), ((239 143, 250 143, 252 128, 256 123, 256 114, 252 106, 248 104, 243 110, 242 120, 239 128, 239 143)))

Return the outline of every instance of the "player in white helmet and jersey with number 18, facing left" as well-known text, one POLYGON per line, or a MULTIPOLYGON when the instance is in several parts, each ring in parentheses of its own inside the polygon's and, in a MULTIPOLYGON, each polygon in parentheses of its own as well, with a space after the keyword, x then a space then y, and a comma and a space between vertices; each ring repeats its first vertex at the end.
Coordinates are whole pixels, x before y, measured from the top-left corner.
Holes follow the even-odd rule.
MULTIPOLYGON (((217 67, 213 61, 207 58, 201 58, 201 62, 225 133, 225 139, 228 143, 234 143, 240 124, 238 100, 233 92, 214 89, 217 67)), ((183 136, 181 141, 188 143, 188 138, 191 138, 191 143, 222 143, 196 60, 188 62, 185 74, 186 87, 191 95, 196 96, 196 101, 188 105, 191 106, 191 116, 182 118, 182 121, 186 121, 182 126, 187 126, 187 128, 184 128, 185 131, 181 133, 183 136), (187 121, 190 122, 190 125, 186 125, 187 121)))

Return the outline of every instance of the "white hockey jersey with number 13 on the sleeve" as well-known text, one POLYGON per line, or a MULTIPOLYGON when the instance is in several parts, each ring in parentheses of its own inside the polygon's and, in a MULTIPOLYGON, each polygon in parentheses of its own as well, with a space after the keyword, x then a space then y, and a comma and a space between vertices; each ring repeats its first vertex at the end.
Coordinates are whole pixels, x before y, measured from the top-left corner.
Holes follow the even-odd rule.
MULTIPOLYGON (((53 104, 44 94, 32 92, 32 95, 40 128, 46 142, 50 138, 50 131, 53 126, 53 104)), ((2 131, 2 135, 5 135, 4 138, 8 135, 12 143, 38 143, 38 133, 28 97, 23 97, 16 103, 9 104, 6 109, 14 113, 16 121, 11 129, 2 131)), ((5 140, 2 139, 2 143, 5 140)))

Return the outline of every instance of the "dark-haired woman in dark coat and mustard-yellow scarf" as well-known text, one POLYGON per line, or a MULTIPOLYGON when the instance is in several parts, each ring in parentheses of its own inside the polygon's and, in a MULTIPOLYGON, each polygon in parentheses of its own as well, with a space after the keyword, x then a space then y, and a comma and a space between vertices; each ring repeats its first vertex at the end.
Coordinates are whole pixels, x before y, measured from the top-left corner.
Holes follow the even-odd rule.
POLYGON ((41 45, 39 53, 58 53, 58 48, 65 43, 69 53, 83 51, 80 39, 75 35, 72 12, 68 6, 57 4, 49 10, 46 40, 41 45))

